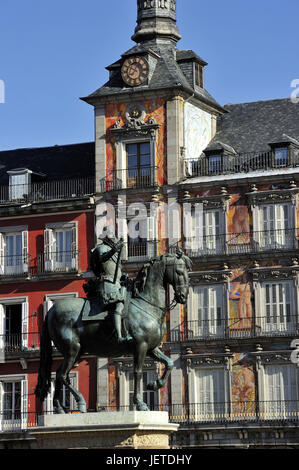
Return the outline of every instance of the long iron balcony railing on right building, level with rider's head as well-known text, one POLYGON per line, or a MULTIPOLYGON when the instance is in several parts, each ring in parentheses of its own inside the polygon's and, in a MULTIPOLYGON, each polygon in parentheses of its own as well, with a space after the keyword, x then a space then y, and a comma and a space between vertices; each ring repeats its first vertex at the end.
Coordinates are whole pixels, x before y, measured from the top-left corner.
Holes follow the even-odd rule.
POLYGON ((299 247, 298 228, 199 236, 186 240, 189 256, 240 255, 299 247))

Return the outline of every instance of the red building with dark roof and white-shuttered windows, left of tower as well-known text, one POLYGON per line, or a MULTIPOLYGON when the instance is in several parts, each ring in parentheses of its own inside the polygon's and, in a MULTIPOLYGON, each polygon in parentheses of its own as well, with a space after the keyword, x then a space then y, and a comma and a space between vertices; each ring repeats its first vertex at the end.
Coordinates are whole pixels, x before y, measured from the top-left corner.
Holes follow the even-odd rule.
MULTIPOLYGON (((43 320, 56 300, 84 296, 82 279, 88 276, 94 245, 94 176, 89 170, 84 174, 81 159, 91 166, 92 145, 2 152, 2 431, 27 429, 36 425, 38 413, 52 410, 53 390, 43 407, 34 395, 43 320)), ((60 360, 54 351, 53 384, 60 360)), ((71 374, 90 408, 96 402, 95 379, 91 380, 95 364, 94 358, 87 358, 71 374)), ((71 407, 70 401, 64 391, 65 405, 71 407)))

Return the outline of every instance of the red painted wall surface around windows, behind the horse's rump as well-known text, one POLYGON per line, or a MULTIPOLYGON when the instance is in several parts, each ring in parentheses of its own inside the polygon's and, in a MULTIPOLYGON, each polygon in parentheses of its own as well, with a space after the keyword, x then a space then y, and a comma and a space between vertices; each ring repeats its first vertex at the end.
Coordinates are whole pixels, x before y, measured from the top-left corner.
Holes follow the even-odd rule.
MULTIPOLYGON (((55 214, 34 214, 27 217, 5 217, 0 220, 0 233, 9 233, 22 229, 27 229, 28 234, 28 273, 14 277, 8 277, 3 274, 0 282, 0 304, 5 305, 9 302, 23 302, 27 300, 27 325, 26 325, 26 347, 21 340, 13 340, 5 327, 7 321, 4 318, 4 338, 5 361, 0 363, 0 379, 2 381, 19 380, 25 377, 27 404, 23 404, 28 412, 29 421, 36 421, 37 413, 41 411, 40 402, 34 395, 34 389, 37 384, 39 368, 39 337, 42 330, 43 319, 49 304, 46 299, 51 296, 73 294, 77 297, 84 297, 83 290, 84 273, 88 271, 89 253, 94 246, 94 212, 89 210, 78 210, 76 212, 62 211, 59 213, 59 203, 57 203, 57 212, 55 214), (77 228, 76 252, 78 253, 76 269, 67 272, 67 269, 53 269, 46 272, 39 266, 39 258, 44 262, 45 256, 45 229, 47 226, 55 227, 63 224, 75 224, 77 228), (53 225, 54 224, 54 225, 53 225), (25 361, 24 361, 25 359, 25 361)), ((24 320, 24 319, 23 319, 24 320)), ((3 321, 3 318, 2 318, 3 321)), ((20 328, 24 335, 24 330, 20 328)), ((13 336, 13 335, 12 335, 13 336)), ((20 335, 21 337, 21 335, 20 335)), ((52 372, 55 373, 61 358, 58 353, 53 354, 52 372)), ((83 359, 80 364, 73 369, 76 376, 77 385, 83 394, 87 409, 96 408, 96 358, 83 359)), ((3 391, 2 391, 3 395, 3 391)))

